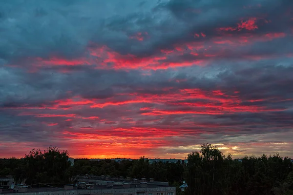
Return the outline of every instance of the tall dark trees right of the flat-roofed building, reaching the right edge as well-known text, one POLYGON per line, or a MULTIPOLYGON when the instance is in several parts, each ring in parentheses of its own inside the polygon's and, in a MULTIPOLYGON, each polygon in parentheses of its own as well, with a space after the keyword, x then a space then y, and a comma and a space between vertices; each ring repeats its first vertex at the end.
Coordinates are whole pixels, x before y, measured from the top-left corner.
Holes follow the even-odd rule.
POLYGON ((188 195, 285 195, 293 190, 292 161, 278 154, 245 156, 242 162, 203 144, 188 155, 188 195))

